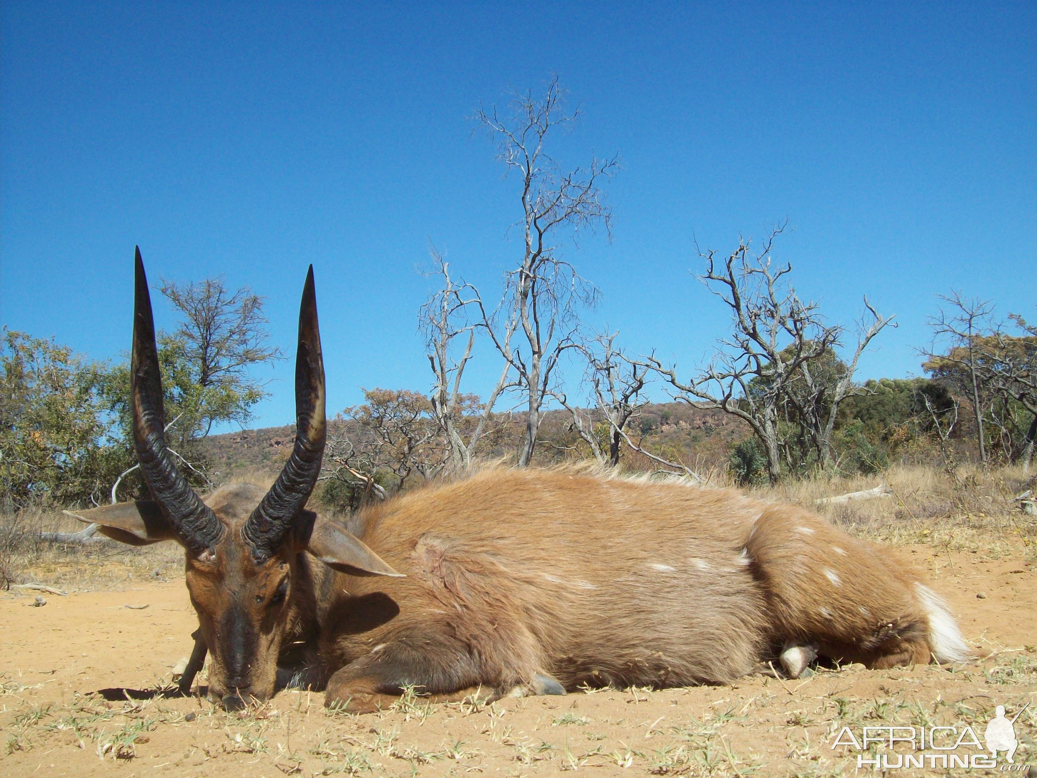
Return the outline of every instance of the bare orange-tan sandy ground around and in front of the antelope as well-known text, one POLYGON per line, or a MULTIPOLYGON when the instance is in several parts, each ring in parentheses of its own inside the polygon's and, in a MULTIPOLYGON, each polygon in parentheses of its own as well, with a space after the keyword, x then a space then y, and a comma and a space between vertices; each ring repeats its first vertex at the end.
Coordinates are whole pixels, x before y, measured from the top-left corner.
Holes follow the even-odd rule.
MULTIPOLYGON (((976 663, 851 666, 807 680, 767 670, 728 687, 605 690, 484 707, 418 697, 366 716, 329 714, 323 694, 300 691, 242 714, 198 696, 157 694, 196 627, 183 579, 44 593, 41 607, 32 605, 36 592, 3 593, 0 775, 852 775, 852 747, 831 747, 843 726, 860 738, 866 725, 969 724, 982 740, 996 705, 1013 716, 1028 701, 1015 724, 1015 762, 1037 765, 1037 571, 1019 561, 1021 551, 1000 559, 925 547, 907 553, 985 655, 976 663)), ((921 772, 964 771, 889 774, 921 772)))

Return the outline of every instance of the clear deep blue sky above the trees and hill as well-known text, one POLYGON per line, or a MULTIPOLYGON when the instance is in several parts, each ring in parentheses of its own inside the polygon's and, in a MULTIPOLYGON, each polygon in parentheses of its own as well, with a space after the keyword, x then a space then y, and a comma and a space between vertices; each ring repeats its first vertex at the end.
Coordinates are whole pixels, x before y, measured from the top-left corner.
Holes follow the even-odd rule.
MULTIPOLYGON (((572 162, 618 151, 615 241, 569 253, 593 319, 691 368, 726 312, 693 233, 792 228, 778 259, 830 318, 900 328, 859 376, 919 371, 951 287, 1037 317, 1037 5, 0 5, 0 319, 94 358, 129 346, 150 276, 225 274, 293 342, 313 262, 330 408, 425 389, 428 242, 493 295, 513 185, 466 120, 557 71, 572 162)), ((157 311, 160 326, 167 311, 157 311)), ((471 390, 496 370, 478 355, 471 390)), ((260 425, 293 417, 291 363, 260 425)))

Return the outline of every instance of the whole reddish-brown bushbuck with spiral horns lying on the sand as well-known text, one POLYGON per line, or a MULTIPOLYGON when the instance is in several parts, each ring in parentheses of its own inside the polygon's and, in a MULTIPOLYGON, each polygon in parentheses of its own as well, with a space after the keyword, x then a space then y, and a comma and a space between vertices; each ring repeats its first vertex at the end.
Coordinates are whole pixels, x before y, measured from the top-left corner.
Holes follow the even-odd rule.
POLYGON ((269 492, 202 500, 166 450, 139 252, 136 274, 134 429, 152 499, 80 518, 125 543, 184 546, 200 621, 188 686, 207 649, 209 696, 228 706, 274 694, 279 658, 300 646, 328 704, 357 712, 410 686, 561 694, 721 684, 775 654, 791 676, 817 655, 969 657, 947 606, 887 549, 733 491, 497 468, 367 507, 356 534, 307 510, 325 445, 312 268, 291 456, 269 492))

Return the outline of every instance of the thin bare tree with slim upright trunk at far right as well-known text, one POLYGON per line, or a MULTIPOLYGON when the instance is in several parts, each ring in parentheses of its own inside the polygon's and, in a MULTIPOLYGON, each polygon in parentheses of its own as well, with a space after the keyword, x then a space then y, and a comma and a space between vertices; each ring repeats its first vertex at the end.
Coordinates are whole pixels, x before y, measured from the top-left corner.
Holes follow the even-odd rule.
POLYGON ((961 377, 960 384, 972 402, 973 415, 976 419, 976 442, 979 444, 979 460, 986 463, 986 434, 983 429, 984 397, 981 396, 981 381, 977 374, 978 340, 991 334, 993 328, 990 315, 993 305, 989 300, 965 298, 960 291, 941 295, 940 299, 949 309, 943 306, 935 316, 929 316, 932 328, 932 344, 922 356, 927 358, 925 368, 930 372, 940 373, 945 378, 952 374, 961 377))

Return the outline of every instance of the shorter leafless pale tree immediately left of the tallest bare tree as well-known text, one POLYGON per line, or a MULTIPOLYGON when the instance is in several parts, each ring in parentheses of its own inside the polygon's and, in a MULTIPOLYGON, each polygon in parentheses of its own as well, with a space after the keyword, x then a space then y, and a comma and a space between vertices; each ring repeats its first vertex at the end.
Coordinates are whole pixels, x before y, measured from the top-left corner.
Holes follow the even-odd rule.
MULTIPOLYGON (((467 470, 493 422, 497 400, 502 393, 517 388, 518 382, 511 378, 511 363, 505 360, 485 402, 480 402, 477 395, 461 392, 461 378, 472 358, 476 334, 485 326, 484 317, 473 321, 469 315, 470 310, 482 311, 481 298, 475 286, 451 277, 449 263, 435 247, 431 256, 433 273, 442 281, 418 313, 428 363, 436 377, 429 399, 432 415, 447 439, 451 466, 454 470, 467 470)), ((510 349, 517 325, 518 319, 513 318, 501 332, 505 350, 510 349)))

